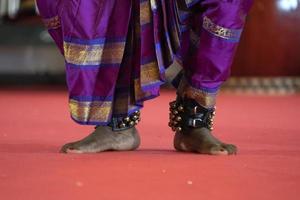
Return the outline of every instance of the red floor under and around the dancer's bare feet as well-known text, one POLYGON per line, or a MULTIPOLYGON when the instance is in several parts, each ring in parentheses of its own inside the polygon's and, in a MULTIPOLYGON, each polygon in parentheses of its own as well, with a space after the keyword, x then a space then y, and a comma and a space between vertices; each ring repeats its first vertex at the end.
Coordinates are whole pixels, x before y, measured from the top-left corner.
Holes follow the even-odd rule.
POLYGON ((63 90, 0 89, 2 200, 296 200, 300 195, 300 96, 221 94, 215 132, 237 156, 177 153, 163 91, 147 102, 135 152, 57 153, 92 127, 69 119, 63 90))

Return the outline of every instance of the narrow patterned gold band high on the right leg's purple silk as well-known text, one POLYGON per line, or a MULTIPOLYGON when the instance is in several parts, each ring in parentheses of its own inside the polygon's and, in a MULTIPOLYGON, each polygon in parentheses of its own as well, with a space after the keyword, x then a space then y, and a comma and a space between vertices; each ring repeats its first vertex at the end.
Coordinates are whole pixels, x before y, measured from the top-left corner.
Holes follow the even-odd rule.
POLYGON ((213 35, 227 40, 239 40, 241 35, 241 29, 228 29, 219 26, 207 16, 203 17, 203 28, 213 35))

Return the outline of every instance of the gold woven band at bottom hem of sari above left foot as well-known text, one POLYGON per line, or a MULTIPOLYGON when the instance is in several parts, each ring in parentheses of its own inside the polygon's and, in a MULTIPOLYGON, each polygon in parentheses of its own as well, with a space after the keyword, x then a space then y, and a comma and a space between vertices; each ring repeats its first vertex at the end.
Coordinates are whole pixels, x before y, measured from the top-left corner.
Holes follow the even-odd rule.
POLYGON ((77 101, 70 99, 72 117, 80 122, 107 122, 111 113, 110 101, 77 101))

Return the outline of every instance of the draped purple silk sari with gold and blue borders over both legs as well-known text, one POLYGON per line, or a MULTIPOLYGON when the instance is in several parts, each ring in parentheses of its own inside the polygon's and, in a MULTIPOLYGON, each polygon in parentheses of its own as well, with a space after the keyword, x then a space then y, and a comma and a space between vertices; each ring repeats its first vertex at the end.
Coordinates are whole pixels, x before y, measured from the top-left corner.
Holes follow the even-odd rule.
POLYGON ((38 0, 65 58, 80 124, 107 125, 159 95, 177 58, 208 98, 229 75, 252 0, 38 0))

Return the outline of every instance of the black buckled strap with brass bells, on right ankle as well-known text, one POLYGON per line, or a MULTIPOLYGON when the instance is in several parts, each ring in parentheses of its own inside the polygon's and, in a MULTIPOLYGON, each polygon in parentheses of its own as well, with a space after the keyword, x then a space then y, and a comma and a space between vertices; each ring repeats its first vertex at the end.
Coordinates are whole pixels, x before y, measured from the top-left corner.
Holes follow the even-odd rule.
POLYGON ((214 108, 205 108, 195 100, 177 98, 170 102, 170 122, 169 126, 173 131, 181 132, 187 128, 205 127, 213 130, 214 108))

